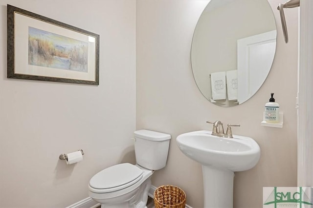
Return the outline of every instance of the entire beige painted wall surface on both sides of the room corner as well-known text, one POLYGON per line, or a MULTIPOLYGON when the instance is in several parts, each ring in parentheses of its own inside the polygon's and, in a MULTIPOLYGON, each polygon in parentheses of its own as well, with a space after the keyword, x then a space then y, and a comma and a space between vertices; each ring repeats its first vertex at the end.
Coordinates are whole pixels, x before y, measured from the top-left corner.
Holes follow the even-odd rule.
POLYGON ((86 198, 96 172, 134 163, 129 138, 146 128, 173 138, 167 166, 155 172, 153 185, 178 185, 187 204, 200 208, 201 165, 184 156, 175 139, 211 130, 205 121, 217 119, 240 123, 234 134, 261 147, 258 165, 235 174, 234 207, 262 207, 263 186, 296 186, 298 16, 297 9, 286 11, 286 45, 276 10, 281 2, 270 1, 278 39, 268 79, 244 104, 222 108, 202 96, 190 65, 193 30, 207 1, 1 0, 0 207, 61 208, 86 198), (99 34, 100 85, 7 79, 7 3, 99 34), (285 113, 283 129, 260 126, 270 92, 285 113), (82 162, 58 160, 80 148, 86 153, 82 162))

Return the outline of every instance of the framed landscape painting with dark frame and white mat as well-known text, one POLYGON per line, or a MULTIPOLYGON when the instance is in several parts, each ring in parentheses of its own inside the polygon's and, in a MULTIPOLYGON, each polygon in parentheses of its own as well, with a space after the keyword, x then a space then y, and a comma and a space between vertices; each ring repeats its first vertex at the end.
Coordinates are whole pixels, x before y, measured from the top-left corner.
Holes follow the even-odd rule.
POLYGON ((99 35, 7 5, 7 77, 99 85, 99 35))

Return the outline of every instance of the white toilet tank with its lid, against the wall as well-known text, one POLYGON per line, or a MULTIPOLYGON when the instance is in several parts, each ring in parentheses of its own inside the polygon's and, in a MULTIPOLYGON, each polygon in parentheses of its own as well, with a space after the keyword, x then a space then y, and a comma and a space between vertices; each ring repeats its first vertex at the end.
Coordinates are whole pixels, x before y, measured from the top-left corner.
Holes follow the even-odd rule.
POLYGON ((135 137, 136 162, 150 170, 166 165, 171 135, 150 130, 137 130, 135 137))

